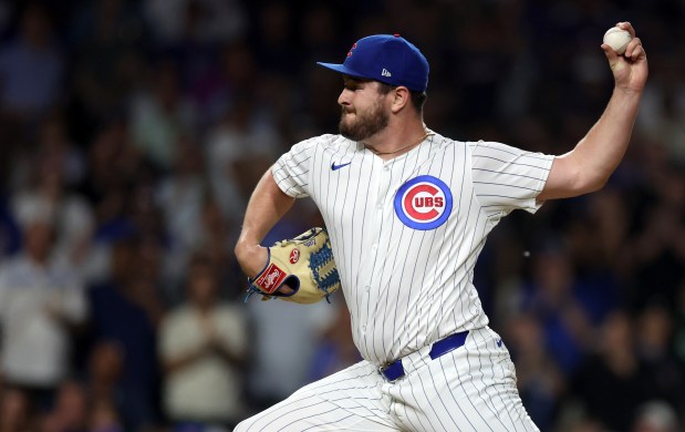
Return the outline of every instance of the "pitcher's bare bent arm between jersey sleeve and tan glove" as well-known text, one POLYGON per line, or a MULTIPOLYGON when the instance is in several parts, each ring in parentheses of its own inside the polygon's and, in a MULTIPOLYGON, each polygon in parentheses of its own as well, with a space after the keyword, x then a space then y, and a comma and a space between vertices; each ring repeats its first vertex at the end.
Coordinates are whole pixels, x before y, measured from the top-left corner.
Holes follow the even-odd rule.
POLYGON ((278 187, 269 168, 252 192, 235 249, 236 258, 248 276, 255 276, 267 263, 267 249, 259 243, 293 204, 294 198, 278 187))

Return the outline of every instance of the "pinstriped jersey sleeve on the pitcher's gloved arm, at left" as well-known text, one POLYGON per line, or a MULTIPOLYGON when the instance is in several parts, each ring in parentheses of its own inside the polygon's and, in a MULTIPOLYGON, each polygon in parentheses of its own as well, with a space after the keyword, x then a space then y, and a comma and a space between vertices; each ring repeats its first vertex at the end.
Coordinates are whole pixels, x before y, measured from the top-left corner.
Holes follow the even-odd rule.
POLYGON ((310 172, 316 142, 316 138, 299 142, 271 167, 271 175, 284 194, 293 198, 309 196, 310 172))

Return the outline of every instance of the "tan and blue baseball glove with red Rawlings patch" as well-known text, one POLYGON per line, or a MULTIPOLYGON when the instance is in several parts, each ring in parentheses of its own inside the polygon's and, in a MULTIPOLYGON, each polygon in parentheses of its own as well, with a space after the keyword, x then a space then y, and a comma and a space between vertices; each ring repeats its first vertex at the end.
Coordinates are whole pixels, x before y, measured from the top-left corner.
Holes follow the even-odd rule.
POLYGON ((255 278, 248 278, 247 299, 253 294, 262 300, 278 297, 299 304, 315 304, 340 288, 340 277, 333 260, 331 240, 323 228, 312 228, 293 239, 278 241, 268 248, 269 260, 255 278), (287 285, 294 292, 283 295, 278 289, 287 285))

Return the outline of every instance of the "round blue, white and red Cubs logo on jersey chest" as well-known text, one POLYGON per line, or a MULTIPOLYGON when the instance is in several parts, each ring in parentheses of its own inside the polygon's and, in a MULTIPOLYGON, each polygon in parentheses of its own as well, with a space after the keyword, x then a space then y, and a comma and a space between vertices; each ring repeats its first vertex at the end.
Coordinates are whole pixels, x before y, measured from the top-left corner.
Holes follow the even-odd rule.
POLYGON ((452 214, 452 192, 442 179, 421 175, 405 182, 395 194, 395 214, 413 229, 435 229, 452 214))

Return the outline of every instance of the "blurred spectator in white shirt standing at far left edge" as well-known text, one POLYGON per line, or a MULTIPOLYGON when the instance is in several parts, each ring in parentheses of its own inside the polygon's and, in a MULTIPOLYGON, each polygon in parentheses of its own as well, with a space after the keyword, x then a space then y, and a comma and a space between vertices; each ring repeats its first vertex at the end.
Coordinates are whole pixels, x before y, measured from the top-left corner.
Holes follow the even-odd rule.
POLYGON ((87 304, 73 268, 51 259, 53 227, 40 209, 24 219, 24 251, 0 268, 0 367, 8 383, 46 409, 70 372, 71 332, 87 304))

